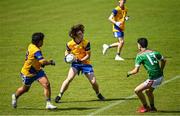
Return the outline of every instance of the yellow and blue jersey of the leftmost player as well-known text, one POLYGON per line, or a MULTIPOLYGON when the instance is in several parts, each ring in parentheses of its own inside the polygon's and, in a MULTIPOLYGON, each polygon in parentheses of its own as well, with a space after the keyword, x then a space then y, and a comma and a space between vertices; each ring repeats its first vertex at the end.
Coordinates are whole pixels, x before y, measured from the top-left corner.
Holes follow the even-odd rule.
POLYGON ((27 77, 35 76, 41 70, 41 63, 45 60, 42 56, 40 48, 34 44, 28 46, 26 59, 21 69, 21 73, 27 77))

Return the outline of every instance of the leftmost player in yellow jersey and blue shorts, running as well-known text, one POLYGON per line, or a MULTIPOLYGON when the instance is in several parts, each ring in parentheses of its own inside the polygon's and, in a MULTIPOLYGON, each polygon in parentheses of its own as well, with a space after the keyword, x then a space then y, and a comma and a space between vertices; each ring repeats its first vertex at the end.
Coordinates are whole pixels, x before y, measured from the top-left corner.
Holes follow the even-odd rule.
POLYGON ((45 60, 40 47, 43 45, 44 34, 34 33, 32 35, 32 43, 29 44, 26 52, 26 59, 21 70, 21 78, 23 85, 12 94, 12 106, 17 107, 18 98, 23 95, 31 87, 34 81, 38 81, 44 88, 44 95, 46 98, 46 109, 56 109, 57 107, 51 104, 51 87, 50 82, 42 70, 46 65, 55 65, 53 60, 45 60))

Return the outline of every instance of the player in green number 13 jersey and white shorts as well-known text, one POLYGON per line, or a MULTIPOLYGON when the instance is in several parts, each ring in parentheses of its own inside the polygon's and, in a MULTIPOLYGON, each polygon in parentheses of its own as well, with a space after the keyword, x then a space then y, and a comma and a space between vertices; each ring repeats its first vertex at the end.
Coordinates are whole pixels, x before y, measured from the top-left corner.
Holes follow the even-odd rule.
POLYGON ((147 49, 148 40, 146 38, 139 38, 137 40, 137 45, 140 52, 136 56, 135 68, 128 72, 127 77, 138 73, 141 64, 144 65, 149 75, 148 79, 138 85, 134 90, 143 104, 143 106, 138 109, 138 112, 157 111, 154 106, 153 91, 163 80, 163 69, 166 60, 159 52, 147 49), (145 91, 148 97, 150 107, 147 104, 143 91, 145 91))

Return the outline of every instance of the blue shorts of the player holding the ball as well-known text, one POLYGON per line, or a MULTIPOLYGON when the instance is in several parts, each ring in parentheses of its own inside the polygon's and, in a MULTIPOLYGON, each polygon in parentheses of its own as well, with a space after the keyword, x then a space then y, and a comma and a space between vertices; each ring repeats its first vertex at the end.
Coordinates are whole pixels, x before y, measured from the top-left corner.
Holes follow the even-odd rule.
POLYGON ((90 64, 78 64, 72 63, 71 67, 75 68, 78 71, 78 74, 81 72, 83 74, 89 74, 94 72, 93 67, 90 64))

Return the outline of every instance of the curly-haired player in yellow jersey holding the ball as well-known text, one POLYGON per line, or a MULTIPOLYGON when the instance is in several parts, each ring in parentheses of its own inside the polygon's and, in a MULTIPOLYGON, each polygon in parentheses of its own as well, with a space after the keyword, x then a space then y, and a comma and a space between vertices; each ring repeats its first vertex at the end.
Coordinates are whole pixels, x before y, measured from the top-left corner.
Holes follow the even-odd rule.
POLYGON ((71 81, 75 78, 76 74, 80 72, 85 74, 88 78, 99 100, 105 100, 99 92, 99 86, 96 82, 93 67, 90 64, 90 42, 84 39, 84 26, 82 24, 73 26, 69 32, 69 36, 72 40, 66 45, 65 56, 72 53, 76 57, 76 61, 72 62, 68 76, 62 83, 60 93, 55 98, 55 102, 58 103, 61 100, 71 81))

